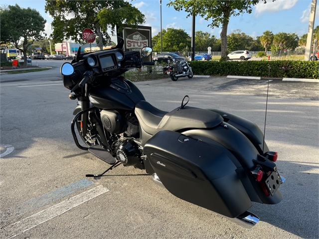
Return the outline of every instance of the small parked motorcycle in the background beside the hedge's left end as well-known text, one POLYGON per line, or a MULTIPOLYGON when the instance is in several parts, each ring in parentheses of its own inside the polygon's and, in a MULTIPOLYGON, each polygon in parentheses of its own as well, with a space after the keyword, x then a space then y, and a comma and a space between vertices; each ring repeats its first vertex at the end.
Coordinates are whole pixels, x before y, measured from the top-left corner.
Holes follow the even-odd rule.
POLYGON ((193 78, 194 73, 191 70, 191 67, 188 65, 187 60, 178 61, 176 62, 175 59, 173 60, 173 65, 163 67, 163 74, 169 75, 172 81, 177 81, 179 77, 193 78))

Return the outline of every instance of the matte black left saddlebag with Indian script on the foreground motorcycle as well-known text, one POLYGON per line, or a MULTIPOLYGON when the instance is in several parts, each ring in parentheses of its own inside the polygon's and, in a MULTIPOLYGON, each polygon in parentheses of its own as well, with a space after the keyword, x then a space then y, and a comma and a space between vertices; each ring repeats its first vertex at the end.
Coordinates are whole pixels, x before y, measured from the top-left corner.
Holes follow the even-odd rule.
POLYGON ((147 141, 144 153, 165 188, 182 200, 230 218, 252 206, 237 167, 210 144, 161 130, 147 141))

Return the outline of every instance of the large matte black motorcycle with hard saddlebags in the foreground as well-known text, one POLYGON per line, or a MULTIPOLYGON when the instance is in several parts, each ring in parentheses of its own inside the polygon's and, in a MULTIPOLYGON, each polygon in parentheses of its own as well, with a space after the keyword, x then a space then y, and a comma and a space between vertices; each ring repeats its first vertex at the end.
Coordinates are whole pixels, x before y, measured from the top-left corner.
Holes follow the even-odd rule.
POLYGON ((76 59, 61 67, 69 98, 79 101, 71 123, 75 144, 112 165, 86 176, 101 176, 120 164, 133 166, 182 200, 254 226, 259 218, 247 211, 252 202, 279 203, 278 188, 285 180, 263 132, 239 116, 188 107, 187 96, 171 112, 155 108, 122 76, 154 65, 141 58, 152 48, 124 52, 123 44, 84 54, 79 47, 76 59))

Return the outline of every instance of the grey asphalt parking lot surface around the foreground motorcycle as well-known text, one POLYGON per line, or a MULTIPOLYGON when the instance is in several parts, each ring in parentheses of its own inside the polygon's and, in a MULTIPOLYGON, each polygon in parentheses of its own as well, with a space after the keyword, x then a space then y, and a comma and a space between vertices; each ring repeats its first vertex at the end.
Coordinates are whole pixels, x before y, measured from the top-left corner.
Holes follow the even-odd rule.
MULTIPOLYGON (((0 158, 0 238, 318 238, 318 83, 270 82, 265 140, 279 152, 277 165, 287 181, 280 204, 253 204, 250 211, 261 221, 248 230, 172 196, 132 167, 85 178, 108 165, 75 146, 70 122, 76 102, 57 71, 0 76, 0 153, 14 148, 0 158), (10 81, 13 76, 20 78, 10 81)), ((188 95, 189 106, 223 109, 264 129, 265 80, 136 85, 161 110, 175 109, 188 95)))

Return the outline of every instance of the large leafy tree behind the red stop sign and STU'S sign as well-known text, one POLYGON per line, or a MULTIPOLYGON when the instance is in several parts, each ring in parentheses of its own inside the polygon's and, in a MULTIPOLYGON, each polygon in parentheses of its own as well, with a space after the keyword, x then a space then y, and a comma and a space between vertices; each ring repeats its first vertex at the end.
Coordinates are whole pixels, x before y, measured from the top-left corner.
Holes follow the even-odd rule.
POLYGON ((109 39, 107 33, 117 26, 121 32, 124 25, 136 27, 145 22, 145 15, 128 1, 123 0, 45 0, 45 12, 53 16, 52 39, 80 41, 85 28, 90 28, 99 37, 102 49, 103 41, 109 39))

